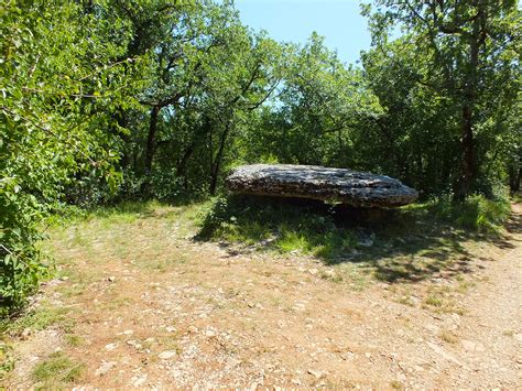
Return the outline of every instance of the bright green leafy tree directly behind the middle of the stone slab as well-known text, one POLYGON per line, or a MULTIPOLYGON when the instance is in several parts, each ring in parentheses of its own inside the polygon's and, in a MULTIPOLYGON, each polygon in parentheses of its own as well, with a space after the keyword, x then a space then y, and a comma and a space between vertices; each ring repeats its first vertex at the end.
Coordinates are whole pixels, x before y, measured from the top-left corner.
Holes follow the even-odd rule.
POLYGON ((360 167, 359 140, 380 111, 362 74, 345 66, 316 33, 286 53, 276 99, 252 129, 251 160, 360 167))

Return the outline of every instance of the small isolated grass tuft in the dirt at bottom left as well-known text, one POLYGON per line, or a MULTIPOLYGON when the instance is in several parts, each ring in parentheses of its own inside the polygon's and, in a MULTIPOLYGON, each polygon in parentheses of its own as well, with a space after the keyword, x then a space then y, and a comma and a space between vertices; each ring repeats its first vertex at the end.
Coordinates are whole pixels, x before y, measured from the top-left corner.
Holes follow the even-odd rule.
POLYGON ((37 384, 36 388, 56 390, 69 388, 69 384, 81 379, 84 371, 84 363, 58 351, 39 362, 33 369, 32 378, 37 384))

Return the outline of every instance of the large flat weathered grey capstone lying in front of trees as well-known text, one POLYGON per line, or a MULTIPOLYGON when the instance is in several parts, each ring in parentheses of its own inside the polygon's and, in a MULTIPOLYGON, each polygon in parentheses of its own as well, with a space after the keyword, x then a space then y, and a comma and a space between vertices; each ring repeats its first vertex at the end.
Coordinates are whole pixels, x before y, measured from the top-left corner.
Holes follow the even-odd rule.
POLYGON ((242 165, 227 177, 232 193, 313 198, 362 207, 396 207, 418 193, 384 175, 316 165, 242 165))

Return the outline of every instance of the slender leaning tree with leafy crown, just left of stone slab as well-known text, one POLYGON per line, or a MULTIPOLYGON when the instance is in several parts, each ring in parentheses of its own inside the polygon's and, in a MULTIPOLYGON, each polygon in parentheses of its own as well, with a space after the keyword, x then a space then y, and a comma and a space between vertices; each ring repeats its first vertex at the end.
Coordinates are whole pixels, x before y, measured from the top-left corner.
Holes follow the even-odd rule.
MULTIPOLYGON (((272 95, 282 78, 282 47, 263 34, 251 35, 237 26, 227 40, 228 45, 213 59, 204 99, 218 133, 216 151, 210 149, 209 193, 215 194, 229 139, 236 135, 240 123, 249 122, 252 111, 259 109, 272 95), (217 127, 216 127, 217 124, 217 127)), ((213 134, 210 134, 213 142, 213 134)))

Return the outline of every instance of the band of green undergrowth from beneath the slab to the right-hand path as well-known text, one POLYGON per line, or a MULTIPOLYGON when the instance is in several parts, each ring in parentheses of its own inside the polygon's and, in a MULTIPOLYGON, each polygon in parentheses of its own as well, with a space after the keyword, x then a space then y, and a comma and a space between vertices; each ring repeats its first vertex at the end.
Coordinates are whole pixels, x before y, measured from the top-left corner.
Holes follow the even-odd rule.
POLYGON ((424 235, 426 239, 444 242, 442 232, 448 230, 467 232, 467 236, 494 236, 509 215, 509 198, 490 200, 480 195, 463 203, 441 197, 393 210, 357 209, 303 199, 229 196, 217 198, 208 207, 198 237, 331 260, 356 248, 385 245, 401 237, 424 235))

